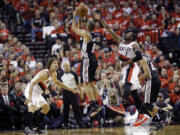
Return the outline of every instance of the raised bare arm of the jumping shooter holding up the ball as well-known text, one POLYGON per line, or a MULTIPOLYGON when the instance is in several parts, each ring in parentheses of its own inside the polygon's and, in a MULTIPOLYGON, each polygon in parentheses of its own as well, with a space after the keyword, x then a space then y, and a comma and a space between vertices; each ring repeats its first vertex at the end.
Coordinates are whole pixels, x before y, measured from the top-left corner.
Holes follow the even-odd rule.
POLYGON ((88 34, 88 32, 86 30, 80 29, 78 26, 76 26, 76 20, 75 20, 76 16, 77 16, 77 11, 74 11, 73 20, 72 20, 72 30, 77 35, 83 37, 84 41, 89 42, 91 40, 91 36, 88 34))

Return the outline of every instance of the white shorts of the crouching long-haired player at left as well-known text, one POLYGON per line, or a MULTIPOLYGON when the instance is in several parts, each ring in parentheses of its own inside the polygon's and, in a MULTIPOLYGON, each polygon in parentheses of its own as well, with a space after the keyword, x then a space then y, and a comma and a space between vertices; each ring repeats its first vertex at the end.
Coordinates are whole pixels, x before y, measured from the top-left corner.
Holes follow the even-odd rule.
MULTIPOLYGON (((42 96, 42 93, 43 91, 41 90, 41 88, 38 85, 34 85, 33 91, 32 91, 32 103, 29 103, 28 107, 30 105, 33 105, 38 110, 43 105, 47 104, 47 101, 42 96)), ((29 84, 27 85, 26 90, 25 90, 25 97, 29 98, 29 84)))

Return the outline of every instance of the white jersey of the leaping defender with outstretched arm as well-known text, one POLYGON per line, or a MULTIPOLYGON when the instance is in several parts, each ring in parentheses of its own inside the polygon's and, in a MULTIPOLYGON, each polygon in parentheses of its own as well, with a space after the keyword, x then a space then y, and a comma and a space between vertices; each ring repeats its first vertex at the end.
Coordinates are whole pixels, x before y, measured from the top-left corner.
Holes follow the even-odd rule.
POLYGON ((128 61, 133 59, 136 54, 133 49, 133 46, 137 44, 136 42, 131 42, 126 44, 125 41, 119 43, 119 58, 122 61, 128 61))

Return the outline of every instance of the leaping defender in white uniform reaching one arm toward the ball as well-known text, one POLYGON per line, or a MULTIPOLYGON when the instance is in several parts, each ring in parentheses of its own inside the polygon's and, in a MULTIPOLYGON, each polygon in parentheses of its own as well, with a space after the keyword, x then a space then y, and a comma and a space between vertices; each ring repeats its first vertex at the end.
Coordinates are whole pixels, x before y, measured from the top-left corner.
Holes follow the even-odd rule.
POLYGON ((148 117, 144 115, 143 103, 140 100, 140 97, 137 93, 137 90, 141 88, 139 83, 138 74, 139 67, 137 62, 142 59, 142 54, 137 42, 135 42, 136 36, 131 31, 126 31, 124 39, 116 34, 104 20, 101 19, 101 16, 97 13, 93 13, 95 19, 101 22, 103 27, 109 32, 111 37, 117 42, 119 45, 119 59, 123 62, 122 66, 122 75, 123 78, 121 82, 124 84, 124 91, 122 102, 125 108, 127 108, 127 101, 129 99, 130 94, 134 98, 134 102, 136 108, 139 111, 138 118, 141 117, 142 121, 145 122, 148 120, 148 117))

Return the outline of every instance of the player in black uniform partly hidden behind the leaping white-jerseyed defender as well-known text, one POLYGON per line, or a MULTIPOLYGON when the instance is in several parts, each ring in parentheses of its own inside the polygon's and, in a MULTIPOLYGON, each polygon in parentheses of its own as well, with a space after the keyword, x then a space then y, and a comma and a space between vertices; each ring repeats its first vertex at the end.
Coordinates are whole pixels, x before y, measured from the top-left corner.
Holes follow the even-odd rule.
POLYGON ((143 59, 140 61, 140 66, 143 74, 139 76, 139 80, 146 81, 144 92, 144 109, 151 115, 151 117, 156 115, 159 116, 157 117, 158 120, 155 125, 156 129, 160 129, 164 126, 164 124, 167 123, 166 120, 169 118, 164 119, 163 114, 166 114, 166 110, 154 105, 161 87, 158 71, 154 67, 151 58, 146 55, 143 55, 143 59))

